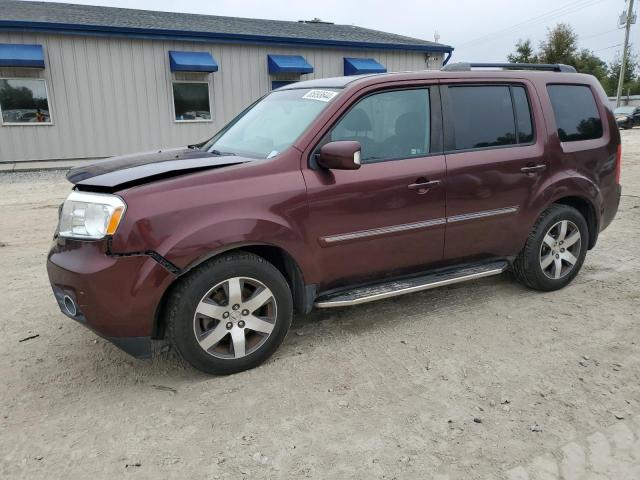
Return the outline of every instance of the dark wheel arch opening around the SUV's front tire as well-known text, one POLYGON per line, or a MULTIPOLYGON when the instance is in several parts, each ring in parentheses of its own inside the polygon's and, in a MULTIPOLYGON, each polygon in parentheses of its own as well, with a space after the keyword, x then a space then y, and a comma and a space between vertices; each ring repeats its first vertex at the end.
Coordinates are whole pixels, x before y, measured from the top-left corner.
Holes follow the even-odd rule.
POLYGON ((240 243, 235 245, 225 246, 214 252, 205 255, 186 268, 184 268, 174 281, 165 290, 156 307, 154 315, 153 330, 151 338, 161 339, 164 338, 166 330, 166 319, 164 310, 167 305, 168 299, 171 297, 174 289, 179 284, 180 279, 187 275, 193 269, 218 258, 221 255, 229 254, 232 252, 249 252, 264 258, 274 267, 276 267, 280 273, 284 276, 285 280, 289 284, 291 289, 291 295, 293 297, 294 311, 297 313, 309 313, 313 307, 313 301, 315 299, 316 289, 314 285, 306 285, 304 275, 298 262, 294 257, 287 252, 284 248, 268 244, 268 243, 240 243))

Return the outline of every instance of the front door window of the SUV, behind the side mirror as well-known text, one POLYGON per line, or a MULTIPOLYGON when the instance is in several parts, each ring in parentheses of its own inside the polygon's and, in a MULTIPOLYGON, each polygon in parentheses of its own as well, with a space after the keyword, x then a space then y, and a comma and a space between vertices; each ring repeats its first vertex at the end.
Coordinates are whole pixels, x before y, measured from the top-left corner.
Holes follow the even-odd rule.
POLYGON ((426 155, 430 130, 429 90, 397 90, 360 100, 326 141, 360 142, 367 163, 426 155))

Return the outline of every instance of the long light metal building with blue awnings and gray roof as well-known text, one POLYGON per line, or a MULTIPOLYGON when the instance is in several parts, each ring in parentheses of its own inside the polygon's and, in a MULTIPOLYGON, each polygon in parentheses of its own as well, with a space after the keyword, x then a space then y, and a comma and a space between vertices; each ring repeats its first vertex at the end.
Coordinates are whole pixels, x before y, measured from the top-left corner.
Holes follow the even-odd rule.
POLYGON ((283 82, 440 68, 452 50, 317 20, 0 0, 0 162, 195 143, 283 82))

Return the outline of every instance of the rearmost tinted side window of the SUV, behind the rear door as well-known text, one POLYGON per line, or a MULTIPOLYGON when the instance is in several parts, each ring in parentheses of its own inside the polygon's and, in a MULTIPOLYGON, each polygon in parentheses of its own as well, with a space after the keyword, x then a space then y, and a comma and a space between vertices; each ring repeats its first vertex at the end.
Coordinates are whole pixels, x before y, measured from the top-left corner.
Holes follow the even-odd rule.
POLYGON ((561 142, 602 136, 602 120, 591 89, 583 85, 548 85, 561 142))

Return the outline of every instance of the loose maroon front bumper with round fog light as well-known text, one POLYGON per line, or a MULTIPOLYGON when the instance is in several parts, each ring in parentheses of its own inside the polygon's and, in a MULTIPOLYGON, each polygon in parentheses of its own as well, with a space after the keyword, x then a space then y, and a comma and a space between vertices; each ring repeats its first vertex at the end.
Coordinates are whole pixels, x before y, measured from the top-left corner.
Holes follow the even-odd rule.
POLYGON ((66 316, 148 358, 157 306, 174 276, 148 256, 106 251, 105 242, 56 240, 47 259, 54 296, 66 316))

